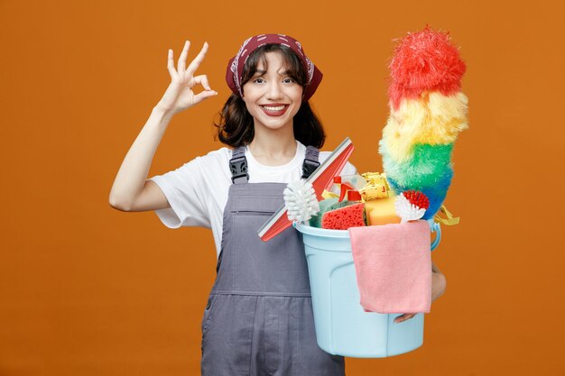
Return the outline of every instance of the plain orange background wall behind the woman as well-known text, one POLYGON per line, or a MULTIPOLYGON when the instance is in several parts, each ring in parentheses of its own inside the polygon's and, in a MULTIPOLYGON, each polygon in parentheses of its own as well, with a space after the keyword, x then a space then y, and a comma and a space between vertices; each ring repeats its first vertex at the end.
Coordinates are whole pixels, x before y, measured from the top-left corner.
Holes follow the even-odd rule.
POLYGON ((562 4, 2 0, 0 375, 199 373, 211 233, 108 205, 169 48, 176 61, 185 39, 190 58, 208 41, 199 72, 219 96, 173 118, 150 177, 221 146, 227 60, 262 32, 299 39, 323 71, 325 149, 349 136, 357 169, 381 170, 392 40, 426 23, 468 64, 446 201, 461 223, 432 254, 448 287, 421 348, 348 358, 347 375, 564 374, 562 4))

